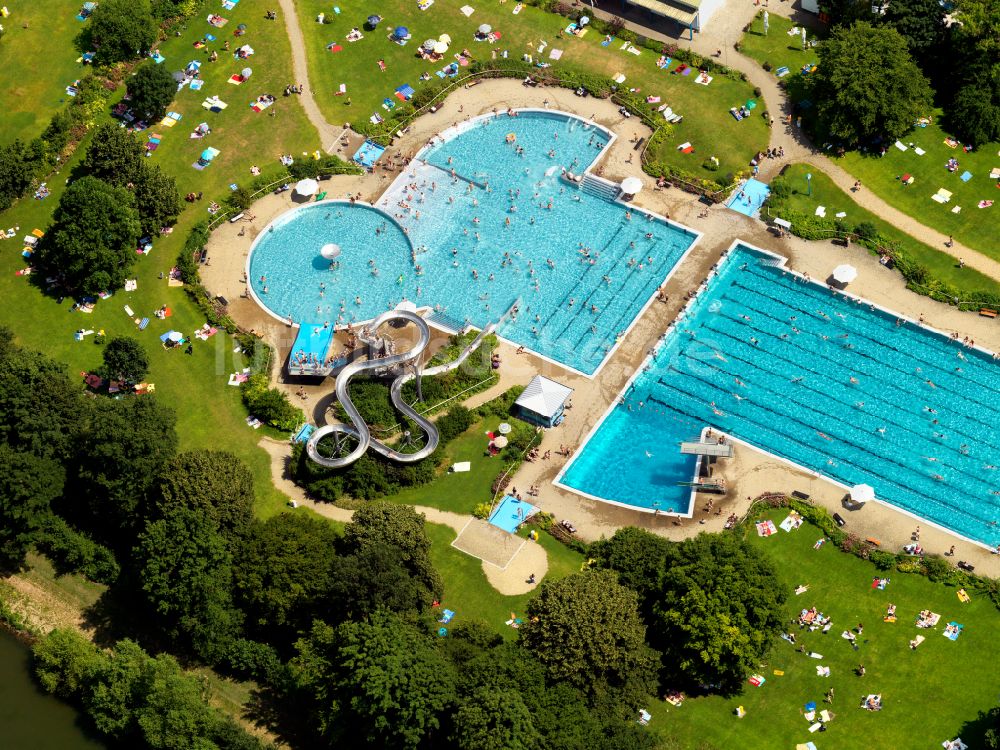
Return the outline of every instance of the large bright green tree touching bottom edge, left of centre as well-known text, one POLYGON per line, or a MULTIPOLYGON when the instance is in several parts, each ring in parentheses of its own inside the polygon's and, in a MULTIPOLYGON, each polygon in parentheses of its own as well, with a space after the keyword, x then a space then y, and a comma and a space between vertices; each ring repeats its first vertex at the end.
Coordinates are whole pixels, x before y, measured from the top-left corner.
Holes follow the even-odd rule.
POLYGON ((429 636, 394 615, 334 629, 316 623, 291 670, 317 733, 378 748, 433 744, 455 698, 454 673, 429 636))

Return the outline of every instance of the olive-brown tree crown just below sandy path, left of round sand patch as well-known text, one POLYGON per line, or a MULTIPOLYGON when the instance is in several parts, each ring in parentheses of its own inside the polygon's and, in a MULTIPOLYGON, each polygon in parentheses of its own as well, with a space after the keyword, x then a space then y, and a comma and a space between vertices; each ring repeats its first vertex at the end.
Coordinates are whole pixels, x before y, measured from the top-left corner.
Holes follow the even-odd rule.
POLYGON ((344 529, 343 553, 356 554, 375 545, 398 549, 414 580, 434 595, 441 595, 443 586, 431 563, 431 541, 424 529, 424 517, 412 507, 373 502, 354 512, 344 529))

